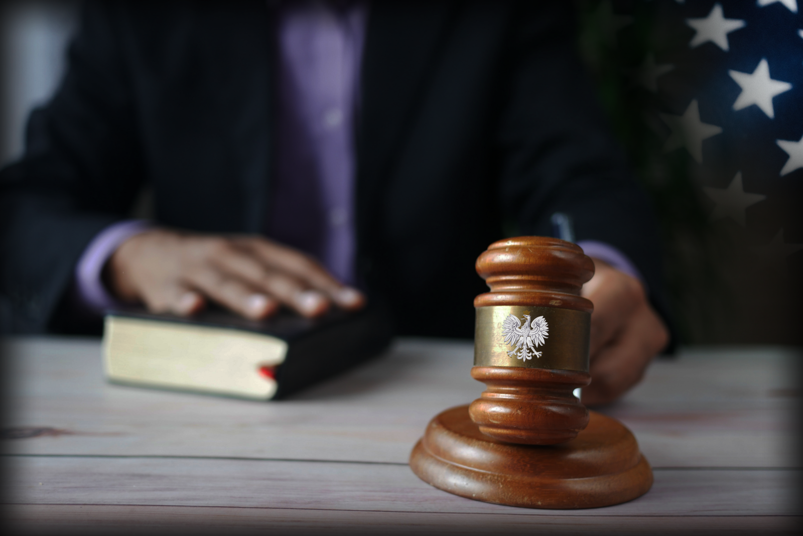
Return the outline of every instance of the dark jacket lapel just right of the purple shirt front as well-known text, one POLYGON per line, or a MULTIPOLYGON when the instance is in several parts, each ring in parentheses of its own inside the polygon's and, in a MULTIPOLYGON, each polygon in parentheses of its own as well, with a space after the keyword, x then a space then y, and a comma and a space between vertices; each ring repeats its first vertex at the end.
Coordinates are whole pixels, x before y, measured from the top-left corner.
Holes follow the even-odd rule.
MULTIPOLYGON (((451 20, 449 2, 373 2, 357 128, 357 229, 372 225, 382 183, 402 146, 451 20), (368 224, 368 225, 366 225, 368 224)), ((358 232, 358 241, 365 241, 358 232)))

